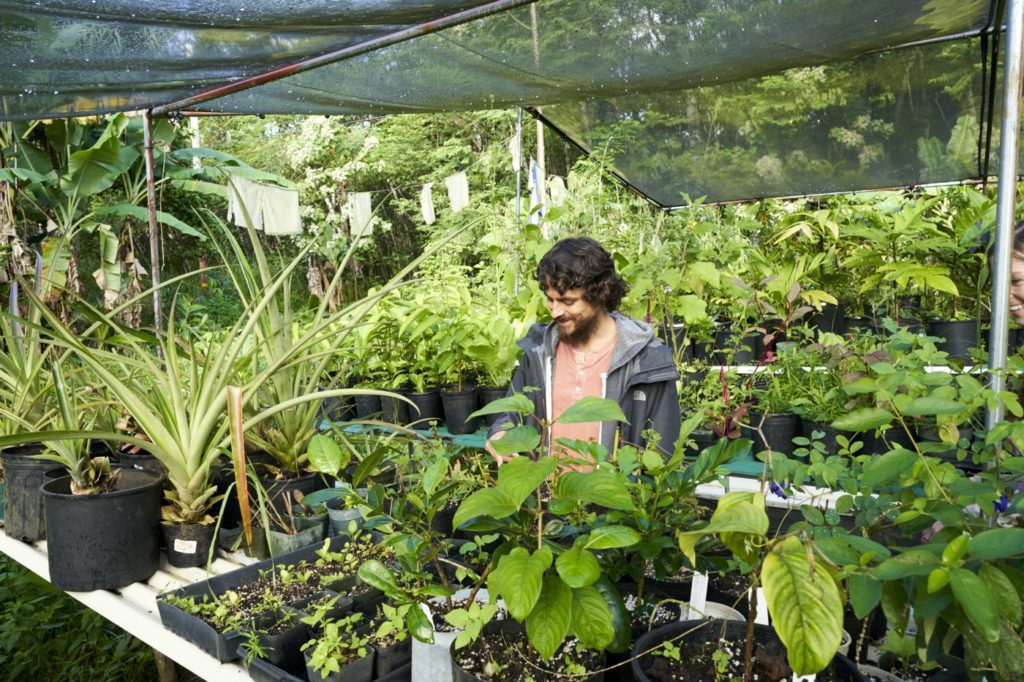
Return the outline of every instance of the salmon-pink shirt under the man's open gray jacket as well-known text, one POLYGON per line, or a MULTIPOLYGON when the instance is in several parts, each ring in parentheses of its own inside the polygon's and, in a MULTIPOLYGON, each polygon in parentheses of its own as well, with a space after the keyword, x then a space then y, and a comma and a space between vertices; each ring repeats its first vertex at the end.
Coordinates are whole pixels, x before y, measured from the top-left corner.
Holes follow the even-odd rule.
MULTIPOLYGON (((565 410, 588 395, 604 397, 604 379, 611 364, 611 351, 615 347, 612 337, 601 348, 591 352, 581 352, 565 343, 555 349, 555 377, 551 387, 551 417, 553 420, 565 410)), ((561 445, 558 438, 591 440, 597 442, 601 435, 600 422, 585 424, 554 424, 551 427, 551 442, 557 452, 561 445)), ((611 443, 603 443, 611 446, 611 443)), ((588 470, 590 467, 581 468, 588 470)))

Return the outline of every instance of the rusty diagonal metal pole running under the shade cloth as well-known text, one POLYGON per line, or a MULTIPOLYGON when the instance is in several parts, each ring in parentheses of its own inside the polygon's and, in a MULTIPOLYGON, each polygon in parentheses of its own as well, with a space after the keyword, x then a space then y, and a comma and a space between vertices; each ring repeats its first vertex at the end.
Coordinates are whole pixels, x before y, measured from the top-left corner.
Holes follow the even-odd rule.
POLYGON ((301 74, 309 71, 310 69, 316 69, 317 67, 323 67, 328 63, 348 59, 359 54, 366 54, 367 52, 372 52, 373 50, 380 49, 382 47, 404 42, 410 38, 417 38, 419 36, 436 33, 441 29, 447 29, 453 26, 465 24, 466 22, 483 18, 484 16, 489 16, 490 14, 503 12, 507 9, 529 4, 535 1, 536 0, 495 0, 495 2, 488 2, 485 5, 470 7, 469 9, 464 9, 462 11, 455 12, 454 14, 449 14, 447 16, 441 16, 440 18, 432 22, 425 22, 408 29, 402 29, 401 31, 395 31, 394 33, 389 33, 385 36, 373 38, 357 45, 343 47, 340 50, 303 59, 297 63, 290 63, 287 67, 273 69, 257 76, 243 78, 242 80, 228 83, 227 85, 222 85, 212 90, 207 90, 206 92, 201 92, 190 97, 185 97, 184 99, 172 101, 168 104, 161 104, 160 106, 155 106, 153 109, 153 113, 160 116, 169 112, 175 112, 188 106, 194 106, 209 99, 216 99, 217 97, 234 94, 236 92, 249 89, 256 85, 276 81, 281 78, 285 78, 286 76, 301 74))

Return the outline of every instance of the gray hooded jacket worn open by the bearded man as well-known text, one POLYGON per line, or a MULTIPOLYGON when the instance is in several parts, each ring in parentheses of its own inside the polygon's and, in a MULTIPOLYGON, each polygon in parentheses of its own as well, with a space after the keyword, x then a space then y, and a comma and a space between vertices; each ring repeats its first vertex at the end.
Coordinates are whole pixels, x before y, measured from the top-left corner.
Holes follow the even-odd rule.
MULTIPOLYGON (((622 424, 620 439, 637 445, 646 444, 643 431, 657 431, 659 447, 672 453, 679 439, 679 395, 676 381, 679 372, 672 351, 654 336, 650 326, 617 312, 610 313, 617 334, 611 351, 608 372, 602 376, 604 395, 618 403, 629 424, 622 424)), ((512 377, 509 392, 521 393, 524 386, 541 390, 527 395, 534 401, 534 414, 551 421, 551 384, 555 376, 555 347, 558 327, 554 323, 534 325, 525 338, 518 341, 522 359, 512 377)), ((520 423, 518 415, 502 415, 487 432, 487 437, 503 430, 509 422, 520 423)), ((601 424, 600 442, 611 450, 617 422, 601 424)))

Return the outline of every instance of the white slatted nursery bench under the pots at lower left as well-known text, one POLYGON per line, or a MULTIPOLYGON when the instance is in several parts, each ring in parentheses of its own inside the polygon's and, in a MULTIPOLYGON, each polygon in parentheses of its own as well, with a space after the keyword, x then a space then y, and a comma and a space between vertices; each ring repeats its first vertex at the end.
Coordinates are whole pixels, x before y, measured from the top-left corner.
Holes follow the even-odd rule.
MULTIPOLYGON (((49 582, 45 541, 28 545, 0 532, 0 552, 49 582)), ((232 553, 215 560, 209 574, 225 573, 254 561, 241 553, 232 553)), ((160 570, 145 583, 133 583, 115 591, 69 592, 68 595, 205 680, 249 680, 249 672, 241 663, 219 663, 191 642, 164 628, 160 621, 158 594, 198 583, 209 574, 205 568, 171 566, 162 555, 160 570)))

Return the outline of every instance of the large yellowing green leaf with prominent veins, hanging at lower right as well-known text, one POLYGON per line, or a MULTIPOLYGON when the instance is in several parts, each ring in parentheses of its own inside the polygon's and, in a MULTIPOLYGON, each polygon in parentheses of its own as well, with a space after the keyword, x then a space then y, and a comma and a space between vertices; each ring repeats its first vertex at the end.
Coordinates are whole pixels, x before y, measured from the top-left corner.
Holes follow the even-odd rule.
POLYGON ((843 598, 826 570, 790 537, 767 554, 761 568, 768 612, 797 675, 824 670, 843 639, 843 598))

